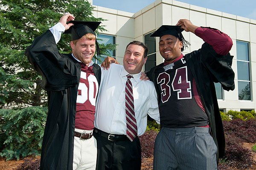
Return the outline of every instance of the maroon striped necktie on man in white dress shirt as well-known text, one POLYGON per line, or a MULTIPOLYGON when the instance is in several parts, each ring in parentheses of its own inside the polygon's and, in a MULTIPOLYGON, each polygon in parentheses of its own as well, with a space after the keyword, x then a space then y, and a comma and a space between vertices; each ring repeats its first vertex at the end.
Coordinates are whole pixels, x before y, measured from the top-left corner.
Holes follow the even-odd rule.
POLYGON ((133 141, 137 136, 137 122, 134 112, 134 98, 132 92, 132 84, 130 78, 132 75, 127 75, 125 84, 125 114, 126 114, 126 134, 133 141))

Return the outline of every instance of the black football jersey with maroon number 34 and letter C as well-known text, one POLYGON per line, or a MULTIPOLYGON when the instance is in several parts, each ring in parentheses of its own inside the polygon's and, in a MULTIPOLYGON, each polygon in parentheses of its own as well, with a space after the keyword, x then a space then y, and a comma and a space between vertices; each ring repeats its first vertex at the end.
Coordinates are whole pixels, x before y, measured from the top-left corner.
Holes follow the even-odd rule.
POLYGON ((186 128, 208 124, 194 77, 185 58, 155 70, 161 98, 160 119, 163 127, 186 128))

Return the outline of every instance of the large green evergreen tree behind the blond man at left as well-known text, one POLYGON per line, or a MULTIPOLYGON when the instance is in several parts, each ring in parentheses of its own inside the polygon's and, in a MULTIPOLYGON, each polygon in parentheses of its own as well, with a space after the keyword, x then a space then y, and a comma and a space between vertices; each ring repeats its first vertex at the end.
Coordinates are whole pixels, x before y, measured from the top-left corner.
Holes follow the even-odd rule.
MULTIPOLYGON (((0 155, 19 159, 40 154, 47 116, 47 94, 41 76, 24 55, 26 47, 66 12, 76 20, 104 19, 93 17, 93 6, 85 0, 0 0, 0 4, 0 148, 4 148, 0 155)), ((105 29, 99 26, 99 30, 105 29)), ((70 39, 62 35, 61 53, 71 52, 70 39)), ((115 46, 100 44, 100 49, 109 55, 115 46)))

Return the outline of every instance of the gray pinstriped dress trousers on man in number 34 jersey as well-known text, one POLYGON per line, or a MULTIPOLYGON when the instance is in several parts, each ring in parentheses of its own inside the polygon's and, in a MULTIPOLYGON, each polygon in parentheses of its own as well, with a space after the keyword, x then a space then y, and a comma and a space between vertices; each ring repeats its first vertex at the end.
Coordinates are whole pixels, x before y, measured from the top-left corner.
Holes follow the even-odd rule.
POLYGON ((154 170, 217 170, 216 153, 208 127, 163 127, 154 144, 154 170))

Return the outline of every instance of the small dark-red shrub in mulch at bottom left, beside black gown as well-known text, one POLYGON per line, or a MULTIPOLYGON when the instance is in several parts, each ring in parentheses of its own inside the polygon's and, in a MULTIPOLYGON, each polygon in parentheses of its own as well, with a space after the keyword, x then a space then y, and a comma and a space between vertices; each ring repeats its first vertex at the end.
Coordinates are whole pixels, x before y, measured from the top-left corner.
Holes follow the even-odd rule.
POLYGON ((24 162, 17 167, 17 170, 40 170, 40 159, 25 158, 24 162))

